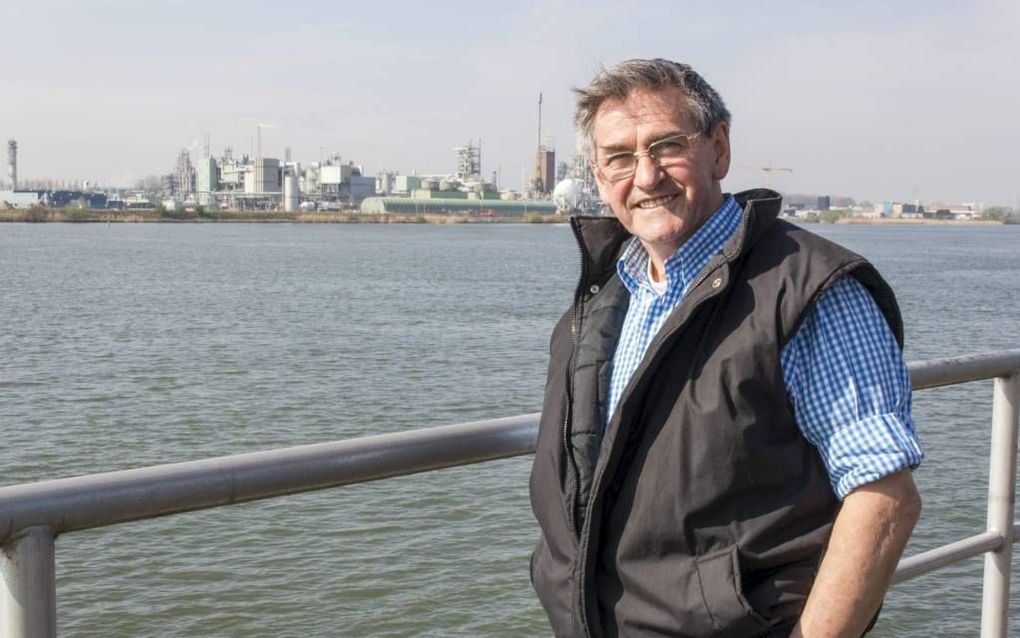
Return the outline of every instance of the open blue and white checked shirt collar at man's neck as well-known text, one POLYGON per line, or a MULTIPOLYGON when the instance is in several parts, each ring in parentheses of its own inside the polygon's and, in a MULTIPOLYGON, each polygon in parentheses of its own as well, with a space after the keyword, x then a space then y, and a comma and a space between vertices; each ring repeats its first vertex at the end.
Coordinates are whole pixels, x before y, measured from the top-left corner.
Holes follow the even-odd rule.
MULTIPOLYGON (((666 259, 667 293, 677 286, 686 290, 712 255, 719 252, 740 228, 741 214, 741 205, 732 195, 726 195, 722 205, 666 259)), ((620 255, 616 271, 630 294, 640 289, 654 294, 648 279, 648 251, 636 237, 629 241, 620 255)))

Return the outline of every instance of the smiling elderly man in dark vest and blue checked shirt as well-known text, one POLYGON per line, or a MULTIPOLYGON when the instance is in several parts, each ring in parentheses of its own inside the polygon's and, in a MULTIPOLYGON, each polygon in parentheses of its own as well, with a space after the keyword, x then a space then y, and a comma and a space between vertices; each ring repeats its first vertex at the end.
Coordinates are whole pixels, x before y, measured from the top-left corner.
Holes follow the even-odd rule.
POLYGON ((722 192, 729 112, 690 66, 577 90, 614 217, 574 217, 531 503, 558 636, 860 636, 920 511, 903 328, 861 256, 722 192))

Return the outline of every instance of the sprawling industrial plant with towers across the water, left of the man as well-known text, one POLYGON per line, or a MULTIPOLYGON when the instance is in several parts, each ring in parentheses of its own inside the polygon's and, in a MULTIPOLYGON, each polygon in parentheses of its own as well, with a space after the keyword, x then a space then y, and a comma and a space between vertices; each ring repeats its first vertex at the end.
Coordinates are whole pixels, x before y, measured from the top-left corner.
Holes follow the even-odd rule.
POLYGON ((453 170, 440 175, 369 175, 362 164, 339 153, 318 161, 268 157, 262 152, 262 129, 250 153, 237 156, 226 147, 219 155, 205 137, 198 157, 181 150, 171 170, 139 188, 98 188, 85 181, 19 181, 18 146, 7 145, 7 183, 0 183, 0 207, 32 206, 106 209, 223 211, 358 211, 362 213, 460 213, 478 216, 527 213, 591 212, 597 194, 591 167, 575 154, 572 164, 556 163, 551 138, 543 138, 539 95, 538 140, 531 179, 519 191, 500 188, 499 171, 483 179, 481 141, 453 147, 453 170))

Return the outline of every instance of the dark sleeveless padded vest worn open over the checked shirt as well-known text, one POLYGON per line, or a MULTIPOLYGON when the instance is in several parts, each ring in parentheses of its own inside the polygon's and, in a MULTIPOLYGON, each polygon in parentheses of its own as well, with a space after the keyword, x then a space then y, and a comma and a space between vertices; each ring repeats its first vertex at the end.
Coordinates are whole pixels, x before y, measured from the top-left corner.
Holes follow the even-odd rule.
POLYGON ((557 636, 759 636, 796 622, 838 507, 794 420, 781 348, 857 255, 740 193, 741 228, 666 321, 603 428, 629 293, 610 217, 574 217, 582 267, 553 332, 531 471, 531 578, 557 636))

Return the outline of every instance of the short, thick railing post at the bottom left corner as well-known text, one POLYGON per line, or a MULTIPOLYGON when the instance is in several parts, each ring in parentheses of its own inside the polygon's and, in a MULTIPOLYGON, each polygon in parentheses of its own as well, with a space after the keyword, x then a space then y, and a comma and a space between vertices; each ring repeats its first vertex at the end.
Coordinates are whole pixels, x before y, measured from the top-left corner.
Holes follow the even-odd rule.
POLYGON ((33 527, 0 547, 0 638, 56 635, 54 536, 33 527))

